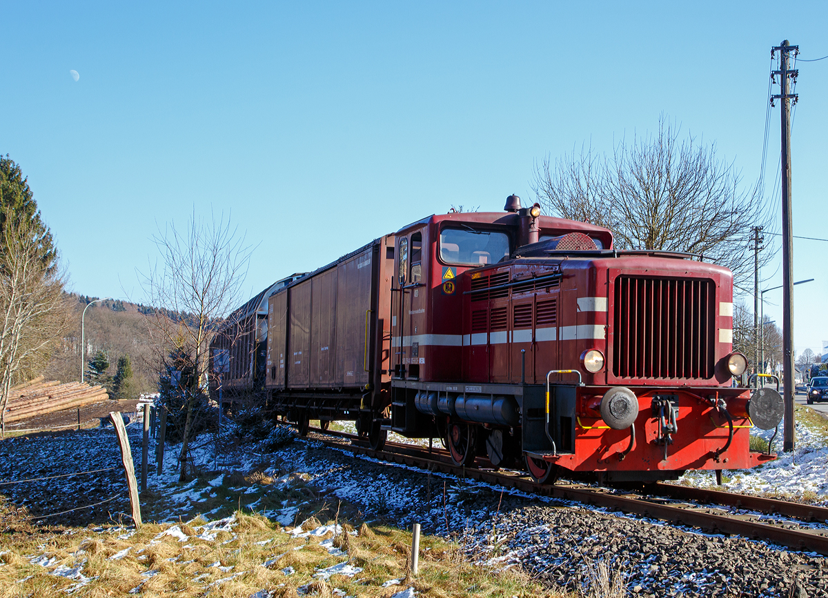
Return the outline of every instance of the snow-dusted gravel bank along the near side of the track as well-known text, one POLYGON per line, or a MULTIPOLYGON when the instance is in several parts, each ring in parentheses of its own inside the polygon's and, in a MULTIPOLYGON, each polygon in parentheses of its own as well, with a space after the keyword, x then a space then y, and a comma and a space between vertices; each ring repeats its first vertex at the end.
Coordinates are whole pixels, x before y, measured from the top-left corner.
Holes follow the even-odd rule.
MULTIPOLYGON (((309 447, 308 455, 316 451, 324 449, 309 447)), ((508 489, 501 494, 496 487, 454 476, 350 460, 344 454, 334 461, 343 466, 331 463, 339 478, 329 481, 322 474, 314 484, 338 486, 335 493, 360 504, 367 517, 401 525, 419 521, 441 535, 448 528, 481 563, 519 564, 561 589, 590 586, 595 564, 603 561, 622 571, 628 591, 638 596, 828 596, 828 564, 815 553, 508 489)))

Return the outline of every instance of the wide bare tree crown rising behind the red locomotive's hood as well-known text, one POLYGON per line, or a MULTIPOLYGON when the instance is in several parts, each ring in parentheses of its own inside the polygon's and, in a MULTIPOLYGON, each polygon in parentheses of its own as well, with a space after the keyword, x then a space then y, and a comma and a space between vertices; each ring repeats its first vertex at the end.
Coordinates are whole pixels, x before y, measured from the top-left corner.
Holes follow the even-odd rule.
MULTIPOLYGON (((749 277, 751 227, 770 227, 761 186, 744 186, 733 162, 660 118, 657 133, 624 139, 611 156, 582 147, 536 166, 532 189, 547 210, 613 231, 620 249, 696 253, 749 277)), ((763 253, 763 263, 773 251, 763 253)))

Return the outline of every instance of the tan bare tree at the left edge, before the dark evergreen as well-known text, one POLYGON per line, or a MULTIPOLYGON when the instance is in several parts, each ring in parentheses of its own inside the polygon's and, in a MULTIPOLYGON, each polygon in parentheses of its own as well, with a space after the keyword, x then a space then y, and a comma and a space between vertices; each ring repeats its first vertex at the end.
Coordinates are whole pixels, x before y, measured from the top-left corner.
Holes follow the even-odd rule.
POLYGON ((0 423, 12 384, 45 367, 69 324, 64 277, 44 259, 42 230, 22 211, 6 210, 0 230, 0 423))

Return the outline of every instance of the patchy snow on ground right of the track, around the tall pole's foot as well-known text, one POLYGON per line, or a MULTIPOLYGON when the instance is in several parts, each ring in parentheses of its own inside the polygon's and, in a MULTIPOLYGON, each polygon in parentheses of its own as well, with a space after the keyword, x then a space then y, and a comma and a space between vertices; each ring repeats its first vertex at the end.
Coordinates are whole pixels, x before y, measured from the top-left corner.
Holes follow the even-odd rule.
MULTIPOLYGON (((773 430, 751 430, 753 436, 769 441, 773 430)), ((797 421, 794 451, 782 452, 782 431, 773 441, 777 459, 749 470, 724 470, 722 485, 732 492, 772 494, 780 498, 811 499, 828 504, 828 438, 821 430, 797 421)), ((712 471, 688 471, 680 484, 715 486, 712 471)))

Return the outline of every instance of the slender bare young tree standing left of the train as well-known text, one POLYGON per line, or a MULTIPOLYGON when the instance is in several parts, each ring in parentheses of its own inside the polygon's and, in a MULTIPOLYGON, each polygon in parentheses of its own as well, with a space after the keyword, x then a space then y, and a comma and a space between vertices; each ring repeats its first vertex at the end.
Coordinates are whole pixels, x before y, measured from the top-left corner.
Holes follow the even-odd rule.
MULTIPOLYGON (((247 274, 253 248, 230 224, 229 217, 203 219, 195 209, 185 225, 159 228, 152 240, 161 258, 146 275, 139 272, 152 306, 147 315, 161 361, 172 353, 186 356, 186 399, 181 414, 185 425, 181 444, 181 480, 186 477, 186 456, 193 408, 205 396, 209 375, 209 340, 216 323, 242 301, 239 287, 247 274)), ((179 359, 181 360, 181 359, 179 359)))

